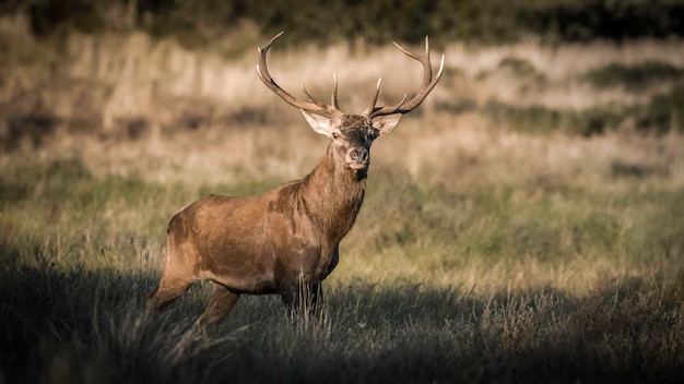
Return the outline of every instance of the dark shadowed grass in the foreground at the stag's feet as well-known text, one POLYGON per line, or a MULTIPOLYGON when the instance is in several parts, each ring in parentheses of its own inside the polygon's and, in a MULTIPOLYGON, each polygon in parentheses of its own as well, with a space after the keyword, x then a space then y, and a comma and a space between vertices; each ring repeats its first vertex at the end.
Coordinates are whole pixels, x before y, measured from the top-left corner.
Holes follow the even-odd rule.
POLYGON ((326 291, 321 319, 240 298, 208 329, 198 285, 143 310, 152 272, 4 268, 0 379, 22 382, 677 382, 684 319, 630 280, 576 298, 486 297, 365 283, 326 291))

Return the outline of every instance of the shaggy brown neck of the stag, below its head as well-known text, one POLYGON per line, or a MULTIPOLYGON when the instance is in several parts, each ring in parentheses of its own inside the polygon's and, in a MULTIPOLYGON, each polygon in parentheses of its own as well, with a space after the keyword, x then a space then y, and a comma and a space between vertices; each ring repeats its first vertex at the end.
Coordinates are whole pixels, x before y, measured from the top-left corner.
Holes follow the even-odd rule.
POLYGON ((334 243, 352 229, 364 201, 366 170, 355 171, 334 158, 332 144, 302 183, 302 197, 319 228, 334 243))

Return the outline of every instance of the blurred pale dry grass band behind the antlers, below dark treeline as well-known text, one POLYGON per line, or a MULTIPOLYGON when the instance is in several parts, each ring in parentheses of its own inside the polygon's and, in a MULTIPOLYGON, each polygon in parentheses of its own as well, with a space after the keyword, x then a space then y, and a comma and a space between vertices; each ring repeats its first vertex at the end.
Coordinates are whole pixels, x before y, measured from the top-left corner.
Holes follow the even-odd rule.
MULTIPOLYGON (((253 48, 264 38, 251 28, 226 37, 226 44, 239 41, 233 45, 253 49, 231 58, 189 51, 174 41, 155 41, 144 34, 72 34, 62 50, 55 50, 22 34, 21 28, 8 31, 11 33, 5 31, 0 36, 13 60, 3 65, 5 81, 0 95, 4 104, 24 113, 37 109, 67 125, 85 120, 115 134, 122 123, 140 119, 161 128, 192 124, 188 122, 192 119, 200 125, 225 125, 240 124, 240 119, 263 121, 267 117, 255 112, 263 108, 276 115, 284 110, 279 104, 272 105, 272 95, 255 75, 253 48)), ((391 45, 355 51, 347 45, 325 50, 286 48, 276 45, 270 53, 271 70, 281 85, 297 92, 303 83, 327 97, 332 74, 337 73, 341 103, 349 111, 365 107, 378 77, 384 79, 384 103, 396 103, 421 81, 420 67, 391 45)), ((608 64, 648 61, 681 68, 684 59, 677 52, 682 49, 682 43, 656 40, 620 47, 593 43, 551 48, 528 43, 433 48, 435 61, 439 53, 447 55, 447 74, 424 109, 472 108, 492 100, 568 110, 644 104, 670 84, 652 84, 639 92, 597 89, 582 74, 608 64)))

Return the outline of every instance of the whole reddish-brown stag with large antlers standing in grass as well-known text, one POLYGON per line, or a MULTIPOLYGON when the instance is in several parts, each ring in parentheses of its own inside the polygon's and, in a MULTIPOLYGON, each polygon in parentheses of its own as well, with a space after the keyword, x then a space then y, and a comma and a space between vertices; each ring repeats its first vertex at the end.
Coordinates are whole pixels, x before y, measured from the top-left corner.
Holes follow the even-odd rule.
POLYGON ((260 196, 212 194, 176 213, 168 224, 162 279, 148 297, 149 308, 161 309, 200 279, 213 283, 200 324, 223 319, 240 293, 279 293, 288 305, 315 305, 322 292, 321 281, 338 264, 340 240, 361 209, 370 144, 388 134, 403 113, 420 106, 444 71, 443 56, 433 79, 427 37, 425 55, 394 43, 423 65, 421 89, 397 106, 376 107, 378 81, 368 107, 361 115, 346 115, 338 107, 337 77, 330 105, 314 99, 304 86, 307 100, 299 100, 273 81, 266 56, 281 35, 259 48, 259 79, 302 110, 315 132, 330 139, 328 149, 302 180, 260 196))

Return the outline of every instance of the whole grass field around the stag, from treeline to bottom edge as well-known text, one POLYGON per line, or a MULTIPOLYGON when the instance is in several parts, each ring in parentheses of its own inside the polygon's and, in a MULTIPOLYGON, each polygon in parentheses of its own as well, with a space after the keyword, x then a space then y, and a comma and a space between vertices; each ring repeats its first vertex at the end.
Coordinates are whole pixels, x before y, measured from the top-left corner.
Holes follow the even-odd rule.
MULTIPOLYGON (((55 59, 52 80, 35 59, 52 53, 31 45, 17 56, 34 67, 3 68, 0 383, 684 377, 684 136, 674 97, 684 63, 671 46, 447 49, 433 101, 373 148, 366 201, 320 317, 290 316, 276 297, 243 297, 202 331, 192 324, 204 285, 161 313, 143 310, 168 219, 208 193, 257 194, 305 176, 326 140, 260 88, 253 57, 198 59, 196 68, 220 70, 173 83, 164 76, 180 72, 140 70, 153 68, 163 48, 154 46, 137 51, 142 72, 131 73, 141 77, 116 81, 111 65, 85 60, 94 56, 79 38, 71 60, 55 59), (653 65, 638 53, 667 63, 656 65, 665 79, 644 75, 653 65), (568 64, 577 55, 582 64, 568 64), (599 71, 611 64, 624 71, 599 71), (627 80, 605 80, 618 72, 627 80), (157 73, 157 85, 134 89, 145 73, 157 73), (196 88, 216 87, 197 81, 211 73, 244 83, 228 81, 224 94, 196 88), (624 86, 634 76, 638 87, 624 86), (659 103, 671 129, 656 134, 639 119, 657 116, 653 99, 668 95, 659 103), (50 130, 21 109, 31 97, 54 119, 50 130), (592 131, 588 105, 645 115, 600 115, 592 131)), ((390 48, 370 59, 344 47, 274 53, 272 72, 288 88, 317 68, 325 79, 304 81, 327 93, 337 71, 343 108, 365 104, 352 95, 402 59, 390 48)), ((417 72, 409 64, 398 72, 417 72)), ((386 97, 412 87, 400 77, 386 77, 386 97)))

